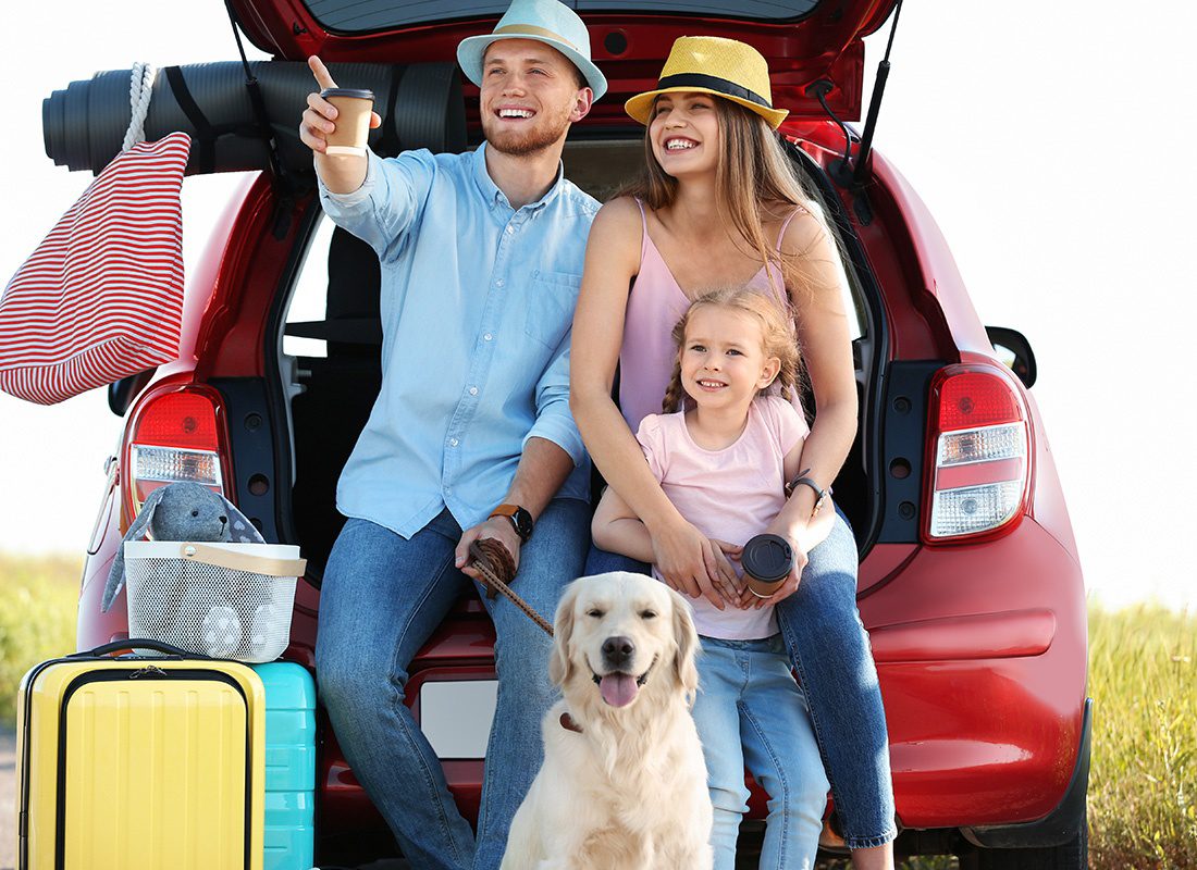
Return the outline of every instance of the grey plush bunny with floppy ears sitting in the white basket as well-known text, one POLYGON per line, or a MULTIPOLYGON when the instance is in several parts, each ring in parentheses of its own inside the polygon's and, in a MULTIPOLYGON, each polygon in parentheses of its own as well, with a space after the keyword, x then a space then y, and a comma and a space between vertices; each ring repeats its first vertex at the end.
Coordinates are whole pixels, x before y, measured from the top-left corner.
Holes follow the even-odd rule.
MULTIPOLYGON (((199 483, 170 483, 150 493, 141 512, 124 533, 124 541, 140 540, 146 530, 156 541, 224 541, 266 543, 254 524, 219 493, 199 483)), ((124 543, 104 586, 101 609, 108 613, 124 584, 124 543)))

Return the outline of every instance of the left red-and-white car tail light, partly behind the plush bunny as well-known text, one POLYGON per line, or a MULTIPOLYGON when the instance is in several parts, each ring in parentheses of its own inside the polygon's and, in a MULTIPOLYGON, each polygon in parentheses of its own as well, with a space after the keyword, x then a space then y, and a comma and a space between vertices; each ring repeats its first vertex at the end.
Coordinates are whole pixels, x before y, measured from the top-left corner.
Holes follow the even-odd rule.
MULTIPOLYGON (((132 521, 151 492, 192 481, 224 493, 224 409, 206 387, 181 387, 141 404, 126 438, 122 495, 132 521)), ((227 493, 224 493, 227 494, 227 493)))

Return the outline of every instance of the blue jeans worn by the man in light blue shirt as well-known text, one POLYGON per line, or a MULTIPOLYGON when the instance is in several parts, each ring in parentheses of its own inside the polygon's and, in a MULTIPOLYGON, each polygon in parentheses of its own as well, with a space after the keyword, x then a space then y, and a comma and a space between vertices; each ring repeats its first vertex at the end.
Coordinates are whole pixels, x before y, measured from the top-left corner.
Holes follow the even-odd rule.
MULTIPOLYGON (((557 499, 521 550, 512 589, 549 621, 563 588, 582 573, 589 535, 590 506, 557 499)), ((499 692, 475 850, 440 762, 403 704, 412 658, 462 591, 479 589, 454 566, 460 540, 448 510, 406 540, 350 519, 321 590, 321 700, 354 775, 418 870, 499 866, 511 817, 540 769, 541 718, 558 696, 547 676, 552 639, 504 596, 482 596, 494 621, 499 692)))

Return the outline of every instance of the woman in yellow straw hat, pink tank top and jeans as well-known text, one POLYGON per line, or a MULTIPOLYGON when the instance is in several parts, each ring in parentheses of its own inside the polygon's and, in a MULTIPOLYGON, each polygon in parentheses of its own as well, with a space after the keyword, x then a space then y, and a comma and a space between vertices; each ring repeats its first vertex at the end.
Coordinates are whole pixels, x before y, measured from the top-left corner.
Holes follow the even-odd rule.
MULTIPOLYGON (((768 69, 754 49, 682 37, 658 87, 626 109, 648 127, 648 175, 631 195, 603 206, 590 231, 575 315, 575 418, 607 483, 648 527, 666 583, 719 609, 737 606, 737 591, 722 579, 719 544, 673 506, 632 432, 661 410, 675 353, 670 330, 692 299, 747 284, 790 306, 818 416, 802 449, 802 483, 768 529, 791 541, 795 570, 761 603, 776 606, 806 689, 853 865, 892 868, 888 741, 856 612, 856 548, 847 534, 809 553, 798 544, 856 433, 836 250, 777 140, 786 111, 772 108, 768 69), (619 407, 612 401, 616 364, 619 407)), ((588 572, 628 567, 619 556, 593 555, 588 572)))

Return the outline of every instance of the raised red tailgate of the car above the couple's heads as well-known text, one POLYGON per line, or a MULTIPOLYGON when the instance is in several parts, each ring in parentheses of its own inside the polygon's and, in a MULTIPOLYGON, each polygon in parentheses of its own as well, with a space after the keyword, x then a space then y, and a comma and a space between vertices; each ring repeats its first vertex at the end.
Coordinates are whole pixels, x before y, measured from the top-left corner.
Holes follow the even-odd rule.
MULTIPOLYGON (((509 0, 231 0, 249 38, 275 60, 419 62, 454 56, 457 43, 490 32, 509 0)), ((646 90, 679 36, 718 34, 753 44, 768 62, 773 102, 790 118, 824 118, 825 99, 844 120, 861 114, 864 37, 897 0, 569 0, 590 31, 595 63, 610 86, 589 123, 620 124, 624 101, 646 90)), ((472 86, 467 96, 476 93, 472 86)))

